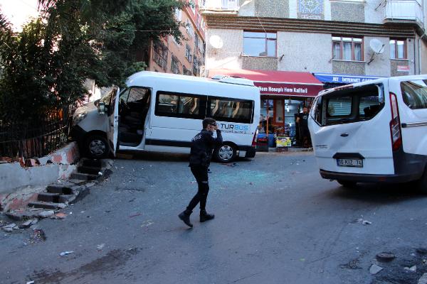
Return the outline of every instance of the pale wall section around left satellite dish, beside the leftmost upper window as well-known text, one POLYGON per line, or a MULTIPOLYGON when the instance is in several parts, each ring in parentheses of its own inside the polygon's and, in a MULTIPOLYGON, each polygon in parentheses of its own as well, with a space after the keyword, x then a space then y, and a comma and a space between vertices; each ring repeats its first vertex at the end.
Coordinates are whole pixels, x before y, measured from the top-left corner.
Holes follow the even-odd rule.
POLYGON ((211 28, 206 36, 206 70, 212 68, 241 69, 243 53, 243 30, 211 28), (211 45, 211 36, 221 38, 223 46, 216 49, 211 45))

